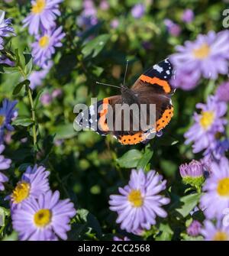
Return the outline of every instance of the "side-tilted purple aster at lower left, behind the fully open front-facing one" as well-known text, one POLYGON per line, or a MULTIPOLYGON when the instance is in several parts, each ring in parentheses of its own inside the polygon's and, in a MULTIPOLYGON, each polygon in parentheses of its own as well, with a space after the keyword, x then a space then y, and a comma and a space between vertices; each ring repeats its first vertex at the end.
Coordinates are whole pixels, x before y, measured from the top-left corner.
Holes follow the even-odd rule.
POLYGON ((44 167, 37 167, 37 165, 27 167, 11 196, 8 196, 11 201, 11 210, 21 208, 31 198, 38 198, 40 194, 50 190, 49 175, 50 172, 44 167))

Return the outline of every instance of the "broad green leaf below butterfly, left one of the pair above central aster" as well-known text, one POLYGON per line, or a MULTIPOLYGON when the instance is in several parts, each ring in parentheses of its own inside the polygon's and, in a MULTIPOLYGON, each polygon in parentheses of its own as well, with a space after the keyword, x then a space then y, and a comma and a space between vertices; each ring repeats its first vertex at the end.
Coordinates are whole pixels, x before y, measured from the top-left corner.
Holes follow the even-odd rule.
POLYGON ((137 149, 127 151, 122 157, 116 159, 118 165, 122 168, 135 168, 142 157, 142 153, 137 149))

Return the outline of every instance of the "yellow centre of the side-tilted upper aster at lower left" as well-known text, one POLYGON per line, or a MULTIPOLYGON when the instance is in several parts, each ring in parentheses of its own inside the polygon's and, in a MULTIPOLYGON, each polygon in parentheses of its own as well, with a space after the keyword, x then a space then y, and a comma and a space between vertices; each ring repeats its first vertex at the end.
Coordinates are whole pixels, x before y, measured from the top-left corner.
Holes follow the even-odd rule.
POLYGON ((13 199, 14 203, 21 203, 24 199, 30 194, 31 185, 25 181, 18 183, 15 187, 15 190, 11 194, 11 198, 13 199))

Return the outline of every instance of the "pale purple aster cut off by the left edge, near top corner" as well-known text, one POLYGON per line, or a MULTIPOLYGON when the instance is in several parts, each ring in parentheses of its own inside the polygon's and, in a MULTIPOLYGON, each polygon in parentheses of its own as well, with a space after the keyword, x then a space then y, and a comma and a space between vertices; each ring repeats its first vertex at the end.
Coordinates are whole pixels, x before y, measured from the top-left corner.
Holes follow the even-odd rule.
POLYGON ((11 28, 11 19, 5 18, 5 11, 0 11, 0 50, 3 50, 3 38, 2 37, 10 37, 15 36, 14 28, 11 28))

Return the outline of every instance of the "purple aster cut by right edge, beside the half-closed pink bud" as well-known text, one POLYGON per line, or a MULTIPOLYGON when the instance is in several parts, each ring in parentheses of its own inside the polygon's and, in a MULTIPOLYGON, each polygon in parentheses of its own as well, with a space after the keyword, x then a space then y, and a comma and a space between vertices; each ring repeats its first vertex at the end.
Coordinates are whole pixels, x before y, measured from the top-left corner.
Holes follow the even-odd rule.
POLYGON ((224 209, 229 207, 229 162, 223 157, 211 163, 210 177, 203 186, 205 194, 200 199, 200 206, 205 209, 208 219, 221 218, 224 209))

